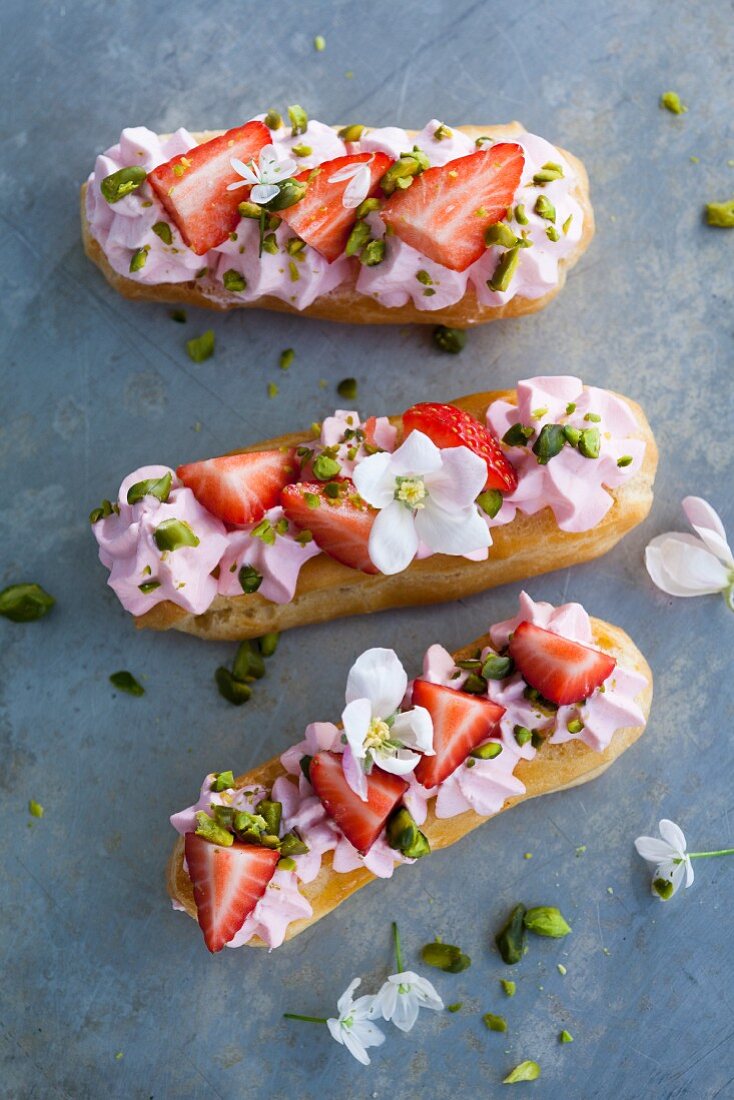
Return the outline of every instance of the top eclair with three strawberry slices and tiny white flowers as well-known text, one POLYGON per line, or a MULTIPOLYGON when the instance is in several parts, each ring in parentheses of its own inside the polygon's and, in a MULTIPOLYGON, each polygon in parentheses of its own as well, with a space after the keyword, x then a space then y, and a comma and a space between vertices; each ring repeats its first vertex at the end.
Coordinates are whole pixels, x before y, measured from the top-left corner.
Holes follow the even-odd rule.
POLYGON ((81 197, 85 249, 108 282, 220 310, 465 327, 541 309, 593 237, 583 165, 518 122, 288 116, 123 130, 81 197))

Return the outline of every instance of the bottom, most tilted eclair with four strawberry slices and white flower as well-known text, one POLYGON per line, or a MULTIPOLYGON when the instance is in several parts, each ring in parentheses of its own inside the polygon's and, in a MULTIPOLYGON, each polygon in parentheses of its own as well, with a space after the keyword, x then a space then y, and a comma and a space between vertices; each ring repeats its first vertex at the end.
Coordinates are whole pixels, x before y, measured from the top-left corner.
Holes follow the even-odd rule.
POLYGON ((623 630, 525 593, 460 652, 431 646, 410 684, 393 650, 368 650, 339 724, 311 723, 237 779, 209 773, 172 816, 174 909, 211 952, 278 947, 371 879, 600 776, 643 733, 651 694, 623 630))

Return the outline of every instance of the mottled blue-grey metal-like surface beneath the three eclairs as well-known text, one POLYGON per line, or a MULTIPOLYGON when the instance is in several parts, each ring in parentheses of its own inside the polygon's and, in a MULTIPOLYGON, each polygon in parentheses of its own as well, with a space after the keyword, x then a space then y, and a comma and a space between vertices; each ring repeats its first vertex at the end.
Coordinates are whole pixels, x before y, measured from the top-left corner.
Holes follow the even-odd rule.
POLYGON ((694 887, 664 906, 632 846, 662 815, 693 848, 734 843, 734 619, 713 596, 666 597, 642 566, 653 535, 682 527, 687 493, 734 534, 734 233, 701 219, 734 191, 733 13, 723 0, 4 0, 0 586, 39 581, 58 606, 32 626, 0 620, 3 1097, 473 1098, 499 1094, 524 1058, 540 1063, 526 1089, 544 1098, 734 1096, 734 861, 700 861, 694 887), (681 118, 658 108, 668 88, 690 105, 681 118), (458 359, 427 330, 258 312, 189 312, 184 328, 117 297, 79 245, 77 188, 95 154, 125 124, 233 125, 289 102, 373 125, 519 118, 585 160, 596 240, 546 312, 472 333, 458 359), (184 340, 209 326, 216 356, 193 364, 184 340), (287 346, 296 362, 282 375, 287 346), (633 635, 656 674, 647 735, 595 785, 503 815, 291 946, 208 957, 164 893, 168 814, 208 770, 243 771, 338 715, 362 649, 395 646, 416 670, 428 642, 456 647, 512 614, 519 590, 295 631, 237 710, 212 684, 233 647, 134 631, 105 585, 89 509, 138 464, 320 418, 346 375, 366 414, 566 371, 644 404, 661 450, 656 503, 601 562, 528 587, 633 635), (113 693, 120 668, 144 680, 144 698, 113 693), (43 821, 29 824, 30 798, 43 821), (519 899, 560 905, 573 935, 533 941, 508 1001, 490 944, 519 899), (328 1014, 354 975, 376 988, 391 919, 412 963, 438 933, 473 965, 431 974, 460 1013, 392 1031, 363 1069, 325 1028, 281 1013, 328 1014), (485 1031, 487 1010, 506 1014, 506 1036, 485 1031))

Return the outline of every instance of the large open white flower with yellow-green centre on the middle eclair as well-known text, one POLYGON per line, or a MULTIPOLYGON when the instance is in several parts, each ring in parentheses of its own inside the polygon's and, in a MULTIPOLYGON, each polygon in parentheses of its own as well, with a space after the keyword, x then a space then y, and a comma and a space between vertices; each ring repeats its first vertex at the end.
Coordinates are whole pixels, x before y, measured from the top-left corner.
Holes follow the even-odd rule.
POLYGON ((463 554, 491 544, 474 501, 486 464, 467 447, 439 450, 412 431, 392 454, 371 454, 354 470, 354 485, 380 509, 370 532, 370 558, 381 573, 401 573, 424 542, 435 553, 463 554))

